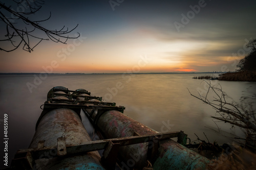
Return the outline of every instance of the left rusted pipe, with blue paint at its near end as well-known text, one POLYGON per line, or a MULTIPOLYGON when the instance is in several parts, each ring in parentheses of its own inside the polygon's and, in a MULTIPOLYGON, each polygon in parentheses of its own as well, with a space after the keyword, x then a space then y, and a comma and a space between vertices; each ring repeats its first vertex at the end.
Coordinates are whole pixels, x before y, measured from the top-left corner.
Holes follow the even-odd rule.
MULTIPOLYGON (((48 98, 69 100, 67 90, 65 87, 54 87, 49 91, 48 98)), ((58 147, 61 144, 69 147, 91 141, 77 112, 68 108, 43 111, 29 148, 58 147)), ((61 150, 57 152, 61 153, 61 150)), ((98 151, 63 155, 61 158, 56 155, 55 150, 42 154, 42 159, 35 160, 36 169, 104 169, 98 151)))

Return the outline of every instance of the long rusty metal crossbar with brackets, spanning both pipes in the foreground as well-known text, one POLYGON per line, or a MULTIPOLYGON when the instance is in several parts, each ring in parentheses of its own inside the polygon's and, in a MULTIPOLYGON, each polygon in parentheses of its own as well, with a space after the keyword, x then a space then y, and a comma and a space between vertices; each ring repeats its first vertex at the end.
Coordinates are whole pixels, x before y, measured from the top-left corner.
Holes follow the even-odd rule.
POLYGON ((57 138, 57 146, 44 147, 44 141, 39 141, 37 148, 18 150, 15 154, 13 161, 18 164, 24 164, 23 167, 32 168, 35 160, 41 159, 41 155, 46 153, 56 152, 57 154, 52 157, 59 157, 70 154, 86 153, 91 151, 104 150, 103 157, 101 158, 109 169, 114 169, 116 164, 116 157, 119 147, 131 144, 148 143, 148 159, 154 158, 158 151, 159 141, 169 138, 178 137, 181 132, 158 133, 152 135, 139 135, 122 138, 104 139, 96 141, 88 141, 79 145, 69 145, 65 143, 64 137, 57 138))

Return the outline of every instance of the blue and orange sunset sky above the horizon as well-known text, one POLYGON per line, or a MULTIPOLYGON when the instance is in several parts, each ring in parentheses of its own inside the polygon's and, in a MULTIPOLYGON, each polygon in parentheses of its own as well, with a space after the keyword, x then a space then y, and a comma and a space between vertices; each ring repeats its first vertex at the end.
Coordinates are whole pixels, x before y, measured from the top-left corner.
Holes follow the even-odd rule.
MULTIPOLYGON (((69 36, 78 32, 80 38, 67 44, 43 41, 31 53, 22 46, 0 51, 0 72, 233 71, 249 52, 246 41, 256 38, 255 9, 256 1, 242 0, 46 0, 31 20, 46 19, 51 12, 40 26, 59 30, 78 24, 69 36)), ((4 39, 2 21, 0 31, 4 39)))

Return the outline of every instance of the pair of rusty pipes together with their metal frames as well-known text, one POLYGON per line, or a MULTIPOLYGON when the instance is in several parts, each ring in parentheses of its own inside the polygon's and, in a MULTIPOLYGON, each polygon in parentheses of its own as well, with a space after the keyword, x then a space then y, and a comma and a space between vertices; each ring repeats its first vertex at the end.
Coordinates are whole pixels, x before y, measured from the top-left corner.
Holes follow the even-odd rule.
POLYGON ((30 148, 15 155, 14 162, 24 169, 103 169, 96 151, 102 149, 108 169, 115 168, 117 157, 122 169, 142 169, 147 160, 154 169, 204 169, 209 163, 170 139, 178 137, 186 143, 183 132, 160 134, 122 114, 124 107, 101 102, 102 98, 90 96, 87 90, 57 86, 47 97, 30 148), (104 137, 111 139, 90 140, 81 123, 81 108, 104 137))

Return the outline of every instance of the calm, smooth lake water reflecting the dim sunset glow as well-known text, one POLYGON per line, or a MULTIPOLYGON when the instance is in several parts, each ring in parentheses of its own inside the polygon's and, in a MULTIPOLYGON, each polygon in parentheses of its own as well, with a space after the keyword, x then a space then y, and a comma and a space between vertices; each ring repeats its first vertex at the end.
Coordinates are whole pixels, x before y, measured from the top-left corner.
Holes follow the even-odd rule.
MULTIPOLYGON (((191 141, 197 138, 194 133, 206 140, 204 132, 210 142, 216 140, 219 144, 231 143, 232 139, 223 135, 232 133, 241 136, 241 130, 217 123, 225 132, 221 132, 222 135, 215 132, 218 128, 210 116, 216 115, 216 111, 191 96, 187 90, 188 88, 193 94, 198 94, 198 91, 206 94, 206 83, 192 79, 194 76, 205 75, 212 74, 48 75, 41 82, 34 75, 0 76, 0 126, 3 129, 4 113, 7 113, 9 161, 16 150, 28 148, 41 113, 40 106, 54 86, 65 86, 70 90, 83 88, 90 91, 91 95, 102 96, 106 102, 124 106, 125 115, 159 132, 182 130, 191 141), (29 89, 27 83, 34 84, 33 88, 29 89), (170 126, 166 127, 168 124, 170 126)), ((211 84, 220 84, 223 91, 236 102, 243 95, 256 93, 255 82, 215 80, 211 84)), ((212 92, 209 97, 211 94, 212 92)))

